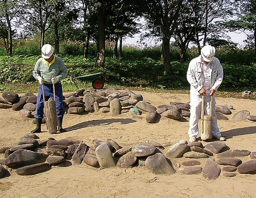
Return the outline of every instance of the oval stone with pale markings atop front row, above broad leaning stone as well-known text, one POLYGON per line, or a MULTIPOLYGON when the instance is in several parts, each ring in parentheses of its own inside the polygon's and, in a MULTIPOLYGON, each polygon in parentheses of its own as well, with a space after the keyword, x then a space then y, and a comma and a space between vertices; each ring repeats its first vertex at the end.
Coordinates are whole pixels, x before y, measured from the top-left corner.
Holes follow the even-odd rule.
POLYGON ((138 143, 133 146, 131 153, 136 157, 150 156, 155 153, 155 146, 147 143, 138 143))

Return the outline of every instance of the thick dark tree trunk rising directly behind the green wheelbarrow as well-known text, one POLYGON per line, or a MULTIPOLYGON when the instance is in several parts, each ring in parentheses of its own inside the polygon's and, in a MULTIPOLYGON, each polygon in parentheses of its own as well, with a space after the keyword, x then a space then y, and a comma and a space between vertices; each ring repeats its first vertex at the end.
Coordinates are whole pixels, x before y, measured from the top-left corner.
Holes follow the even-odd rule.
POLYGON ((101 68, 105 65, 105 17, 102 5, 98 7, 98 20, 99 20, 99 56, 96 62, 96 67, 101 68))

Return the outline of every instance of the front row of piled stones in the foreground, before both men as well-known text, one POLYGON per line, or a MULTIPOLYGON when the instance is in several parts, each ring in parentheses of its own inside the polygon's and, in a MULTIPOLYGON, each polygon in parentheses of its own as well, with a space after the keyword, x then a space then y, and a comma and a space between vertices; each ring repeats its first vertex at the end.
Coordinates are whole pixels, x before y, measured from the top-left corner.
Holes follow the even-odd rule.
MULTIPOLYGON (((256 173, 256 152, 248 150, 228 150, 222 141, 215 141, 203 146, 201 142, 187 143, 180 140, 172 145, 170 142, 159 144, 156 141, 144 140, 120 146, 112 139, 106 141, 93 140, 88 146, 74 138, 55 140, 47 138, 39 141, 34 134, 27 134, 17 141, 17 146, 4 147, 5 159, 0 164, 12 168, 18 175, 32 175, 51 170, 54 166, 70 166, 84 163, 94 168, 146 166, 153 174, 173 174, 178 172, 192 175, 201 174, 207 179, 220 176, 232 177, 237 173, 256 173), (164 147, 165 146, 165 147, 164 147), (250 156, 252 160, 242 162, 239 157, 250 156), (180 164, 172 164, 172 159, 179 158, 180 164), (208 158, 204 167, 200 159, 208 158), (190 160, 187 160, 190 159, 190 160)), ((0 178, 5 176, 7 169, 0 165, 0 178)), ((9 173, 10 175, 10 173, 9 173)))

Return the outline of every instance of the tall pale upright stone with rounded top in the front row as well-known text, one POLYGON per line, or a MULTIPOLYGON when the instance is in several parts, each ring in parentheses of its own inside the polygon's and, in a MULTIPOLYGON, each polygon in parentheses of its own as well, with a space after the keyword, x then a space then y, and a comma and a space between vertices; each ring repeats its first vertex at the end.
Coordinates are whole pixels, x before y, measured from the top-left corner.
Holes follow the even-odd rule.
POLYGON ((95 153, 101 167, 108 168, 116 166, 112 152, 107 143, 97 146, 95 153))

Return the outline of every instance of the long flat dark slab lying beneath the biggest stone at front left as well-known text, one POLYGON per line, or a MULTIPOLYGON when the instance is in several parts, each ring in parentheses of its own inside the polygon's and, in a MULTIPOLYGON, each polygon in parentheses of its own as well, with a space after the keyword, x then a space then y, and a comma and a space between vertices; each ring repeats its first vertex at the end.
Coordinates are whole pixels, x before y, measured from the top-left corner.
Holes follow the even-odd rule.
POLYGON ((51 167, 48 163, 39 163, 39 164, 33 164, 29 166, 24 166, 22 168, 18 168, 15 172, 18 175, 33 175, 35 173, 38 173, 40 171, 47 170, 51 167))

